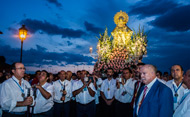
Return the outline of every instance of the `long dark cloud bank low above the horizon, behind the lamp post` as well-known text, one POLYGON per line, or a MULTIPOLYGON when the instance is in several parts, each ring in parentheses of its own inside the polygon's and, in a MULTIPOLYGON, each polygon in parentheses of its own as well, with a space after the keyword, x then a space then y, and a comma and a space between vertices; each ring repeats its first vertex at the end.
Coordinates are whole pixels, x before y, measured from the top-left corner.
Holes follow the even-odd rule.
MULTIPOLYGON (((5 56, 7 63, 12 64, 20 59, 20 48, 11 48, 0 45, 0 55, 5 56), (6 52, 4 52, 6 50, 6 52)), ((23 50, 23 63, 27 66, 36 65, 60 65, 86 62, 92 64, 93 59, 88 56, 73 53, 48 52, 46 48, 36 45, 37 49, 23 50)))

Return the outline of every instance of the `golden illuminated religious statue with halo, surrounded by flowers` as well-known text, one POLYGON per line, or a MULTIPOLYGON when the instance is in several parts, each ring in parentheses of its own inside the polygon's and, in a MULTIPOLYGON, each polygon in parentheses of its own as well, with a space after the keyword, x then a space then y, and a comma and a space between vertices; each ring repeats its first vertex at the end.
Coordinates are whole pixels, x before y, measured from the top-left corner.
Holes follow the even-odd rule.
MULTIPOLYGON (((137 64, 146 54, 147 36, 139 27, 138 32, 132 31, 127 22, 129 16, 125 12, 118 12, 114 16, 115 29, 108 35, 108 29, 100 34, 97 44, 98 61, 94 71, 105 72, 112 68, 120 73, 126 67, 137 64)), ((92 53, 92 49, 90 49, 92 53)))

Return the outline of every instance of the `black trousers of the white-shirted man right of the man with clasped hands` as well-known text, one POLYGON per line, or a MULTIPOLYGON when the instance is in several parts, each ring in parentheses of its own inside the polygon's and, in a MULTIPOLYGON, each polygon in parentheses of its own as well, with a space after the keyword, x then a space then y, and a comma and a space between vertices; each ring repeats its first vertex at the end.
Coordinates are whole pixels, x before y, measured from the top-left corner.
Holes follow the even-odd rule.
POLYGON ((116 117, 132 117, 133 109, 131 108, 130 103, 122 103, 116 100, 115 115, 116 117))

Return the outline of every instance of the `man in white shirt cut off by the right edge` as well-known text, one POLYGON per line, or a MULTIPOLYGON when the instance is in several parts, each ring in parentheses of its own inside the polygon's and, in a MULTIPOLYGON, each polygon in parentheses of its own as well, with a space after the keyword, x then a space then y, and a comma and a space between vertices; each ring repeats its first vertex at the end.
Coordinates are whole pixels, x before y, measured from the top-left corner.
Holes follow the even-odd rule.
POLYGON ((190 116, 190 69, 186 71, 183 79, 183 83, 187 89, 184 90, 184 96, 180 100, 179 106, 173 117, 189 117, 190 116))

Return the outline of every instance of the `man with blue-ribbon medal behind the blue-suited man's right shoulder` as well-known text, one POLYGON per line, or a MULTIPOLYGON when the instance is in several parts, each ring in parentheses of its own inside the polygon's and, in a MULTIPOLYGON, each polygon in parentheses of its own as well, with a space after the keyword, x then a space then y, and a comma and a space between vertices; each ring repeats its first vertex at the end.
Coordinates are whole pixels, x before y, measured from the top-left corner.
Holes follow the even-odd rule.
POLYGON ((174 111, 180 103, 184 95, 185 88, 183 87, 183 68, 180 65, 173 65, 171 67, 171 75, 173 80, 166 82, 166 85, 172 90, 174 100, 174 111))

